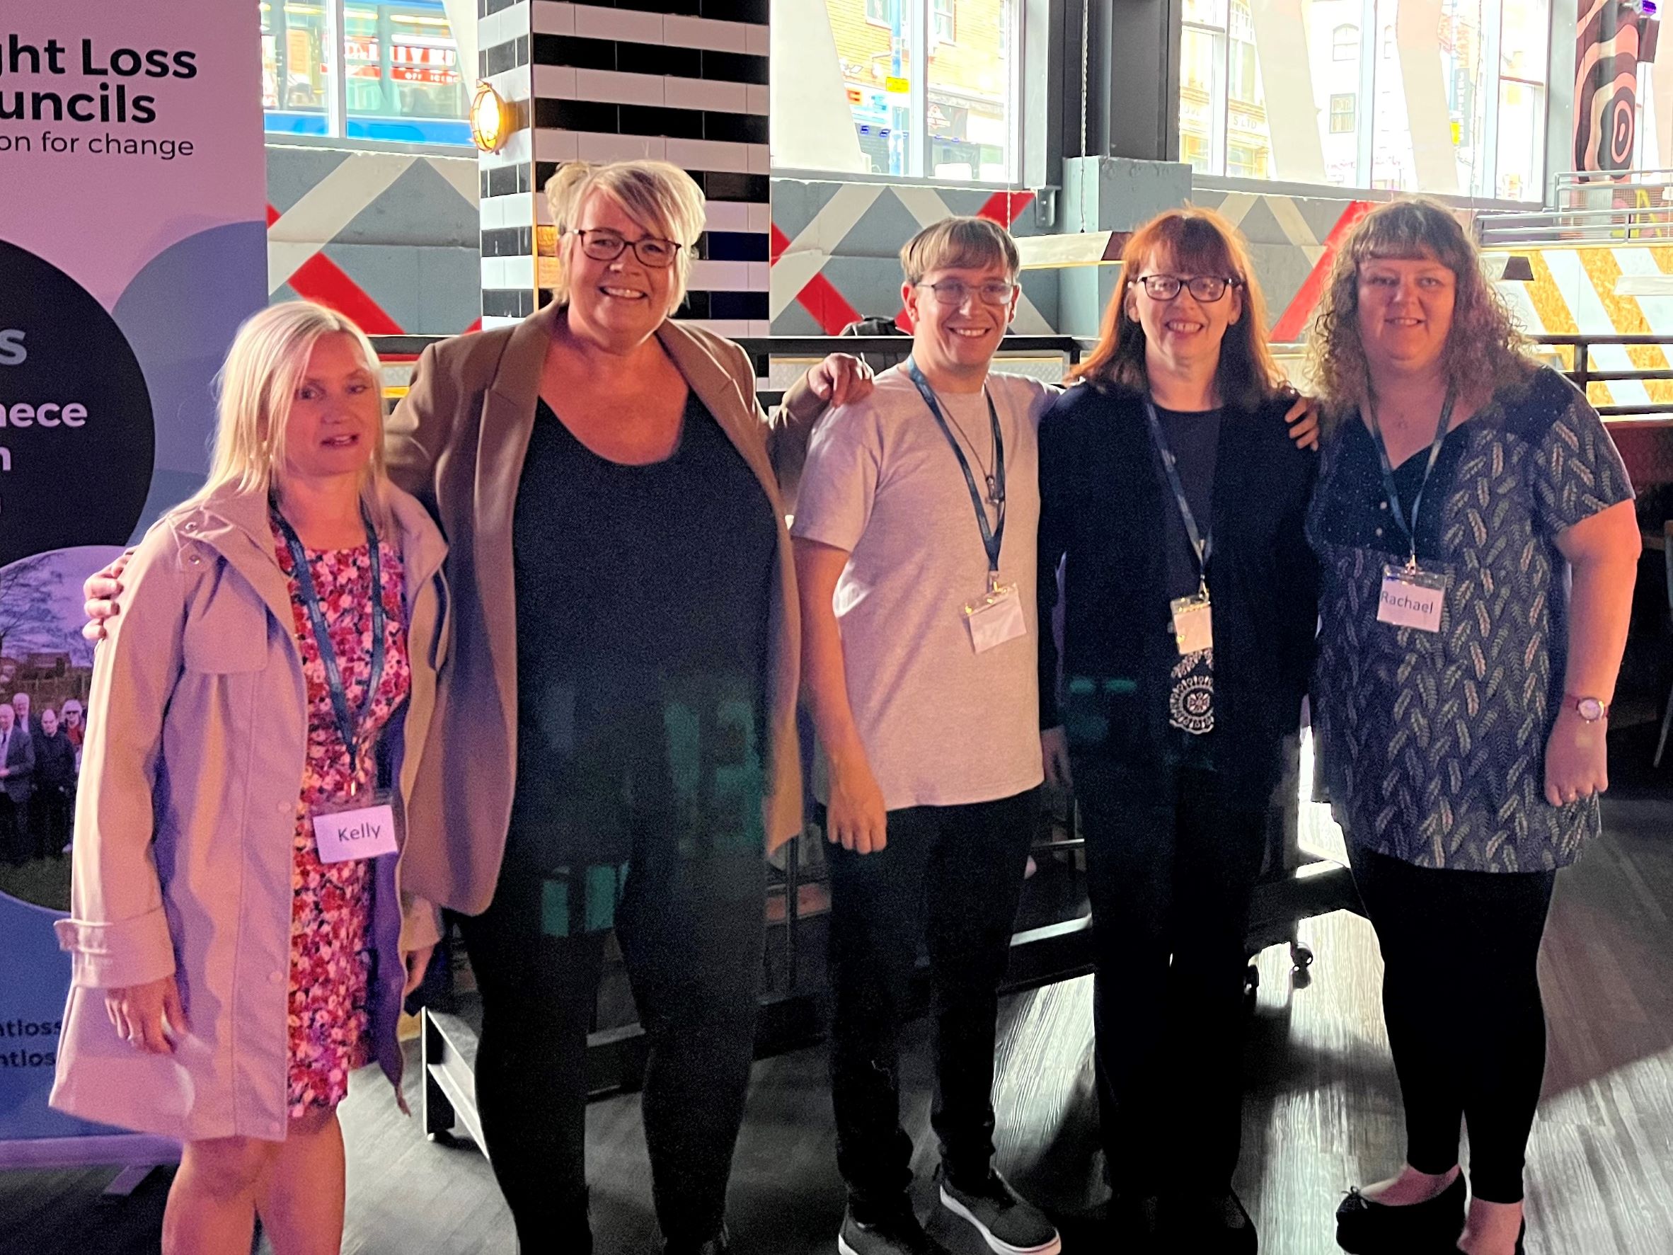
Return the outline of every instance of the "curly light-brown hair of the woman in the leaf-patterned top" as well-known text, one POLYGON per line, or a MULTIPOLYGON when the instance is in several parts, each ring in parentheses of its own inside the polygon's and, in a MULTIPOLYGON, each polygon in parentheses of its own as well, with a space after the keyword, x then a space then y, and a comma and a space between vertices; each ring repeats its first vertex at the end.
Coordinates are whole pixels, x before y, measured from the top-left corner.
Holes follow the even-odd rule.
POLYGON ((1358 269, 1369 258, 1429 258, 1452 271, 1457 291, 1442 368, 1457 395, 1486 400, 1537 365, 1457 214, 1427 196, 1404 196, 1377 206, 1348 233, 1313 315, 1307 338, 1312 380, 1332 420, 1370 392, 1358 331, 1358 269))

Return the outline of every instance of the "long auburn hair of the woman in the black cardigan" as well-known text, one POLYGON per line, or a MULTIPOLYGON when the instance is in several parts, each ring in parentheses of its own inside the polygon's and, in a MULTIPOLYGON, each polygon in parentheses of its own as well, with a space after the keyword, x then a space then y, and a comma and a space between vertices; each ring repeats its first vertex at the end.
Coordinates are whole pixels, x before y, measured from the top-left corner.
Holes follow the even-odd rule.
POLYGON ((1072 380, 1114 383, 1146 390, 1144 328, 1128 315, 1128 288, 1158 254, 1184 271, 1223 274, 1243 289, 1243 316, 1226 328, 1220 343, 1216 385, 1220 400, 1253 410, 1283 388, 1283 371, 1266 345, 1266 301, 1236 228, 1213 209, 1169 209, 1133 233, 1121 251, 1121 286, 1109 300, 1097 346, 1069 371, 1072 380))

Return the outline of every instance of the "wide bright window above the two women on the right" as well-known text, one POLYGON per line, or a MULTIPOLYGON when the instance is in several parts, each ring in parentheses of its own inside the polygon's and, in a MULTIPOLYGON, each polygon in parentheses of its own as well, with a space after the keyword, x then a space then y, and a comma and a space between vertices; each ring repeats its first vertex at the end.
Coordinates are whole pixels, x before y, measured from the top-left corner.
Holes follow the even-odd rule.
POLYGON ((1179 159, 1203 174, 1543 196, 1549 0, 1184 0, 1183 23, 1179 159))

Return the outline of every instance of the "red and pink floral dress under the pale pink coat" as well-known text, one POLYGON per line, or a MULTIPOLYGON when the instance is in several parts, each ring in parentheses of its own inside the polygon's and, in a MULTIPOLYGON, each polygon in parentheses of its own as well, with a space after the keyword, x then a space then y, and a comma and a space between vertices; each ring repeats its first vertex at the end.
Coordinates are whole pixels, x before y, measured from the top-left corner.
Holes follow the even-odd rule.
MULTIPOLYGON (((273 540, 291 589, 296 646, 308 681, 308 758, 296 802, 291 863, 291 979, 286 1106, 291 1118, 333 1108, 348 1094, 348 1074, 370 1058, 371 862, 323 863, 315 848, 311 810, 346 803, 353 786, 375 786, 376 745, 390 715, 407 699, 407 611, 400 551, 378 546, 383 579, 385 661, 371 709, 356 721, 358 755, 350 771, 348 746, 331 709, 331 689, 315 643, 308 606, 278 524, 273 540)), ((343 673, 348 708, 360 711, 371 679, 371 562, 366 546, 308 549, 320 606, 343 673)))

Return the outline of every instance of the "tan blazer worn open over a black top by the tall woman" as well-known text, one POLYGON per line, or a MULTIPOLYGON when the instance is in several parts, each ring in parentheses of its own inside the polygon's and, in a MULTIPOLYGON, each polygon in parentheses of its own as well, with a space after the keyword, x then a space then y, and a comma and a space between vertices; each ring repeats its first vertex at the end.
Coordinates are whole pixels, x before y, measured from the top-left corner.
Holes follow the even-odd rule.
MULTIPOLYGON (((540 393, 540 371, 562 308, 549 305, 517 326, 457 336, 418 358, 412 390, 388 427, 390 474, 442 524, 453 597, 452 659, 440 678, 437 718, 413 810, 443 815, 445 842, 408 848, 407 885, 423 897, 480 914, 494 897, 517 778, 517 594, 512 512, 540 393), (447 730, 468 728, 470 736, 447 730)), ((768 457, 766 415, 755 370, 738 345, 664 321, 668 356, 731 438, 778 517, 768 659, 766 842, 801 830, 796 683, 801 622, 785 505, 768 457)))

